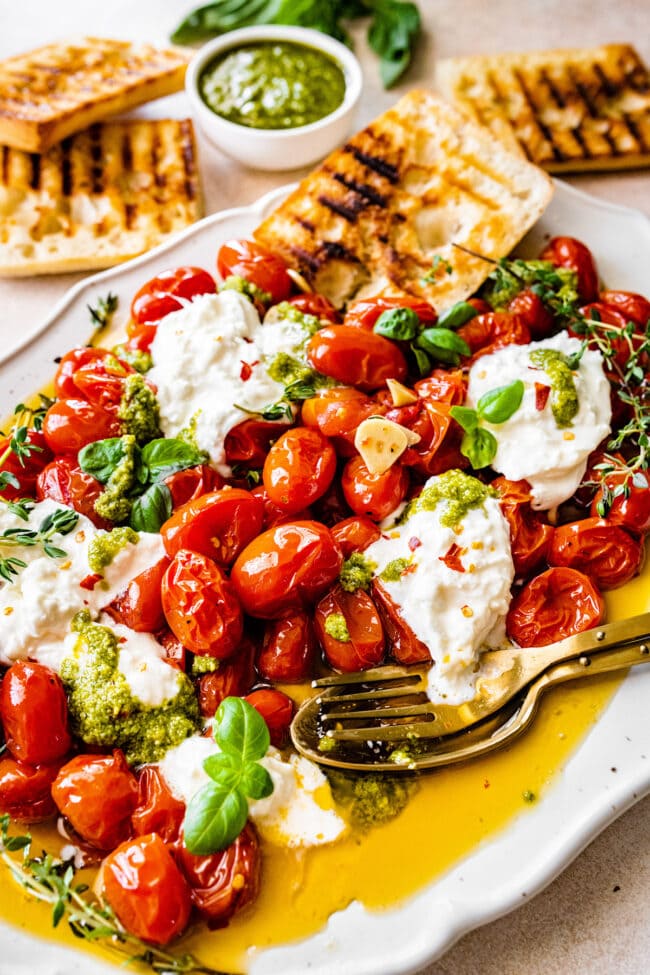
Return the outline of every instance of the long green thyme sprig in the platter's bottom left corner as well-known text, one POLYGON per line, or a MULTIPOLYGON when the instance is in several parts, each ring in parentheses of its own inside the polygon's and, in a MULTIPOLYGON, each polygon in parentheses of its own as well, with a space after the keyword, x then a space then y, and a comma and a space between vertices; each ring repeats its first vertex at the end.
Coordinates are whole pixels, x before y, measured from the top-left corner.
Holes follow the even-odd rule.
POLYGON ((76 870, 70 860, 45 852, 32 856, 30 834, 10 835, 11 825, 8 815, 0 816, 0 860, 29 895, 52 906, 53 927, 65 918, 76 937, 104 942, 106 947, 126 955, 124 964, 144 964, 160 975, 225 975, 202 965, 190 954, 176 955, 129 934, 87 884, 76 882, 76 870), (17 857, 17 853, 22 853, 22 857, 17 857))

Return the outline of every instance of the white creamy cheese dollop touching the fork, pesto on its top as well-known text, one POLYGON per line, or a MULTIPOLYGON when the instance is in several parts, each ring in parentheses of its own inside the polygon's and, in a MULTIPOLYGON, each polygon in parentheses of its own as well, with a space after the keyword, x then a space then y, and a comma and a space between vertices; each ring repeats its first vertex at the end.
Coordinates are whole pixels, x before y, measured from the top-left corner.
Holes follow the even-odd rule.
MULTIPOLYGON (((425 490, 437 480, 430 478, 425 490)), ((376 577, 389 562, 408 560, 409 571, 381 585, 431 651, 431 700, 460 703, 474 696, 480 651, 505 642, 514 567, 508 523, 496 498, 470 508, 453 528, 440 523, 445 511, 445 501, 433 511, 416 511, 369 545, 364 556, 376 563, 376 577), (462 572, 452 567, 454 559, 451 566, 444 561, 452 549, 462 572)))

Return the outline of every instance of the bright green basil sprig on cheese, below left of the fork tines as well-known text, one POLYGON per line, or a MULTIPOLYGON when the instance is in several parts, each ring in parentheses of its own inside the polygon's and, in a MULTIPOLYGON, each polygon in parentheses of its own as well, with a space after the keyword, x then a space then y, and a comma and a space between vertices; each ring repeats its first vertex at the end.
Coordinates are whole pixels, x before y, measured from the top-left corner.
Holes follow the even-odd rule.
POLYGON ((192 796, 183 821, 190 853, 208 856, 237 839, 248 818, 248 799, 265 799, 273 780, 259 760, 266 755, 269 729, 264 718, 240 697, 226 697, 214 719, 221 749, 203 762, 211 781, 192 796))

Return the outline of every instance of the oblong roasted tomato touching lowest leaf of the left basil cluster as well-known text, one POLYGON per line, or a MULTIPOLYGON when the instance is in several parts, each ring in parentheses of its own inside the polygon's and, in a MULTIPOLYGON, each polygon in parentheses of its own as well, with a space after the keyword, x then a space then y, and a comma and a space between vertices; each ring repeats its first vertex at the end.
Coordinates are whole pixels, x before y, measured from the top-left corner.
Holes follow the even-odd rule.
POLYGON ((170 558, 186 548, 227 566, 259 535, 263 521, 260 498, 250 491, 225 487, 181 505, 160 534, 170 558))

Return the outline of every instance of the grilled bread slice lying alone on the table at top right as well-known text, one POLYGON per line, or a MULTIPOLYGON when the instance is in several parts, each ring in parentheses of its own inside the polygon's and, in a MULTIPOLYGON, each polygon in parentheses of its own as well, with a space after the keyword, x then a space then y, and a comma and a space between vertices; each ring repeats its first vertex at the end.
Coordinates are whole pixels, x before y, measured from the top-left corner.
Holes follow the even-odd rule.
POLYGON ((435 82, 550 172, 650 164, 650 73, 629 44, 449 58, 435 82))

